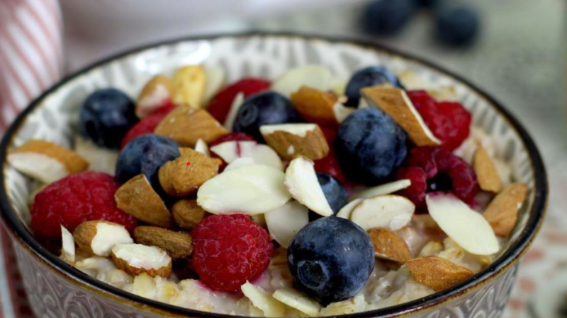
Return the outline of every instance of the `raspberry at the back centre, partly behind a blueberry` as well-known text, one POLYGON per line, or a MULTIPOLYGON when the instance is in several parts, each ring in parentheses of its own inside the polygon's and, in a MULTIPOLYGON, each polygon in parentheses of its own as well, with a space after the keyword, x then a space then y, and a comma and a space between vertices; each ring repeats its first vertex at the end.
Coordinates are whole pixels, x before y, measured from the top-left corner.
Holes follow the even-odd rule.
POLYGON ((232 106, 232 100, 235 99, 238 93, 242 92, 244 97, 260 93, 270 88, 270 82, 262 78, 242 78, 236 83, 223 88, 215 95, 213 100, 208 104, 208 112, 210 112, 215 119, 223 124, 232 106))

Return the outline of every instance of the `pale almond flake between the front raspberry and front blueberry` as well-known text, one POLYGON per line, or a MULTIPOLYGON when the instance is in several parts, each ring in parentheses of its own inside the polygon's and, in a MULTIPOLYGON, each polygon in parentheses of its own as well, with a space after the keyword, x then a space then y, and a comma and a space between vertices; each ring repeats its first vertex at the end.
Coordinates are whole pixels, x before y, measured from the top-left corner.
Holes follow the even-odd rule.
POLYGON ((284 248, 289 246, 301 228, 309 223, 309 209, 298 201, 288 203, 264 213, 271 238, 284 248))

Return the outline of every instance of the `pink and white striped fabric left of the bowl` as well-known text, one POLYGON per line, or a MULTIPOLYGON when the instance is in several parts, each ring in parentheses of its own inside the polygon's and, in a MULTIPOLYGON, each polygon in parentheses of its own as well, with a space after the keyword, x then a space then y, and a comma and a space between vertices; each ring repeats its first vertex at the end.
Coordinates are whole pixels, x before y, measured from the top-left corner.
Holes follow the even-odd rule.
MULTIPOLYGON (((0 134, 62 76, 57 0, 0 0, 0 134)), ((0 317, 31 318, 10 237, 0 226, 0 317)))

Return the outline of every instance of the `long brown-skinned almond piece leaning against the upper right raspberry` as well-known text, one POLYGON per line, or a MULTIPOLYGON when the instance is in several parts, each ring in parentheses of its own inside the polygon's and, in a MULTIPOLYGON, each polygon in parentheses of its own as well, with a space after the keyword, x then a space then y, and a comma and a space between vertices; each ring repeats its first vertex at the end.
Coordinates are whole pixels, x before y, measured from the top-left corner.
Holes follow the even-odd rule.
POLYGON ((371 105, 376 105, 386 112, 393 121, 408 133, 410 140, 417 146, 437 146, 441 141, 437 139, 415 107, 408 94, 400 88, 386 88, 374 86, 361 89, 362 95, 371 105))

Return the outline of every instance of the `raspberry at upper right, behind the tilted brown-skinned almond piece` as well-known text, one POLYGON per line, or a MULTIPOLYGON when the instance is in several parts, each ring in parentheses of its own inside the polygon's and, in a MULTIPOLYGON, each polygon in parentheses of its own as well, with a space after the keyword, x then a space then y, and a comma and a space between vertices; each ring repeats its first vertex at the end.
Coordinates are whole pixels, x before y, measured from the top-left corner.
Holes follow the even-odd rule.
POLYGON ((471 114, 458 102, 436 102, 425 90, 408 92, 410 100, 442 147, 454 150, 467 139, 471 114))

